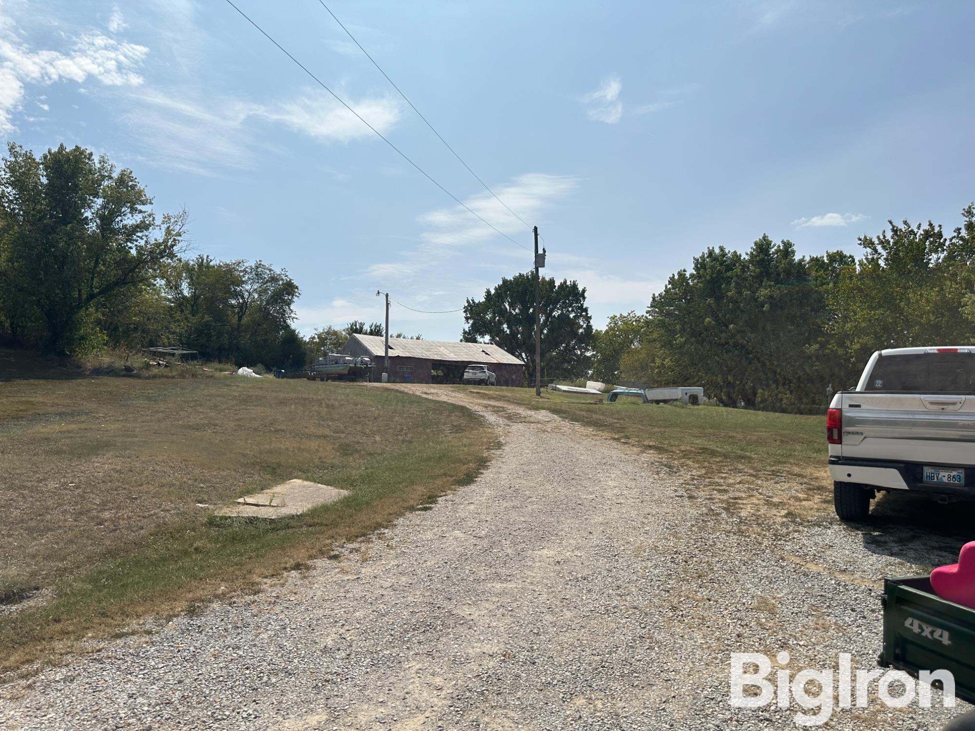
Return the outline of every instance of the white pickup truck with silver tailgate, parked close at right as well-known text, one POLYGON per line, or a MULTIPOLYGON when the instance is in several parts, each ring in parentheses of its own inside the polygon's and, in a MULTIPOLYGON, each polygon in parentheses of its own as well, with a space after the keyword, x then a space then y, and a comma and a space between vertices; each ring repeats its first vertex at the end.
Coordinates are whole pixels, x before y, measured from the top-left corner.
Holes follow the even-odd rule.
POLYGON ((975 346, 878 351, 826 436, 839 519, 867 519, 878 490, 975 499, 975 346))

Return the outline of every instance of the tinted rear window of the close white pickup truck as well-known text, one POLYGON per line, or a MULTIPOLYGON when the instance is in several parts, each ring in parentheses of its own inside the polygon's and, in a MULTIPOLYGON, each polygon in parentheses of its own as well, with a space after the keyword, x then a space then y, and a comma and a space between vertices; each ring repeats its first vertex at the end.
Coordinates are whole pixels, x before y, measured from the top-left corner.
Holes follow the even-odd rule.
POLYGON ((867 390, 972 394, 975 393, 975 354, 880 356, 867 379, 867 390))

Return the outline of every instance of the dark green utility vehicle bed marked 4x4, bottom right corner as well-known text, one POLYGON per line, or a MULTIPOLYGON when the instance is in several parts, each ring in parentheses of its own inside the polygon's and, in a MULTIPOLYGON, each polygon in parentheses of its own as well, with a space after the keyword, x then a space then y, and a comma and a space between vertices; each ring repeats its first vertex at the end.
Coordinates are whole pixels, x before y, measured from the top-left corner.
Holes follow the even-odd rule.
MULTIPOLYGON (((975 703, 975 609, 935 595, 927 576, 883 582, 883 651, 878 663, 917 677, 950 671, 955 695, 975 703)), ((946 727, 975 729, 966 713, 946 727)))

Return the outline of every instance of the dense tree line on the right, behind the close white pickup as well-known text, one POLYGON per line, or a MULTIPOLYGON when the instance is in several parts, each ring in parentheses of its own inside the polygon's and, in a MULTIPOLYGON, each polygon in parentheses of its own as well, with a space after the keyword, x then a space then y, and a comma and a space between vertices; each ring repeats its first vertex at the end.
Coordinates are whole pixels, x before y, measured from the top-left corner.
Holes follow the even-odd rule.
POLYGON ((711 248, 672 275, 643 313, 595 333, 593 376, 701 386, 720 404, 809 411, 856 384, 876 350, 975 337, 975 206, 946 234, 888 221, 843 251, 797 256, 768 236, 711 248))

